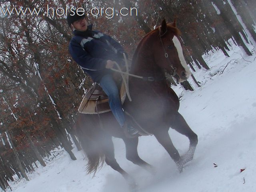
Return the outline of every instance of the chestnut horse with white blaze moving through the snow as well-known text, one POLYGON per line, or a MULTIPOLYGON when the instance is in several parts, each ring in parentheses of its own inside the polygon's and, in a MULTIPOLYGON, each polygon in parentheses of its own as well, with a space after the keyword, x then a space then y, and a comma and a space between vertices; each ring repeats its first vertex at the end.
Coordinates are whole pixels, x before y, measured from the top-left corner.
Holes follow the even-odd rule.
MULTIPOLYGON (((179 98, 164 78, 167 72, 172 76, 175 74, 177 80, 182 82, 191 75, 182 53, 180 34, 180 30, 176 28, 176 20, 167 24, 164 19, 158 28, 142 38, 134 52, 130 74, 154 79, 146 81, 130 77, 129 91, 132 102, 126 99, 123 107, 146 132, 156 137, 182 172, 184 164, 194 156, 198 137, 178 112, 179 98), (168 134, 170 127, 187 136, 190 141, 188 152, 183 156, 180 156, 172 144, 168 134)), ((132 176, 116 162, 112 136, 124 140, 128 160, 154 173, 153 166, 138 155, 138 137, 126 138, 112 112, 100 114, 100 120, 97 114, 80 114, 75 130, 88 159, 88 173, 95 174, 106 162, 122 174, 131 188, 136 188, 132 176)))

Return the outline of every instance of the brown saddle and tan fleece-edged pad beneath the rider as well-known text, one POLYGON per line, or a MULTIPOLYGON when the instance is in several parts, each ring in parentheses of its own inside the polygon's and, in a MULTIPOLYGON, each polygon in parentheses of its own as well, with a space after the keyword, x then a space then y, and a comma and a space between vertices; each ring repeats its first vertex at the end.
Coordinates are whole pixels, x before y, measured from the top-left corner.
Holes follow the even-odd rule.
MULTIPOLYGON (((119 95, 122 104, 126 98, 126 89, 124 83, 119 90, 119 95)), ((108 104, 108 96, 102 90, 98 84, 94 84, 85 94, 78 112, 83 114, 100 114, 110 112, 110 106, 108 104)))

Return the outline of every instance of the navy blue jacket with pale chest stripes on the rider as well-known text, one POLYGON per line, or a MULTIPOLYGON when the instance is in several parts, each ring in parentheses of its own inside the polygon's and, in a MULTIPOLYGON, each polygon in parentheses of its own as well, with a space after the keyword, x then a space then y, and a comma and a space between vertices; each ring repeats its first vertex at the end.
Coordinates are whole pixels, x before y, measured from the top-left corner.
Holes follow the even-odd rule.
POLYGON ((75 30, 73 33, 69 52, 94 82, 99 82, 104 75, 112 73, 110 69, 106 69, 107 60, 124 64, 122 46, 110 36, 92 30, 92 25, 85 32, 75 30))

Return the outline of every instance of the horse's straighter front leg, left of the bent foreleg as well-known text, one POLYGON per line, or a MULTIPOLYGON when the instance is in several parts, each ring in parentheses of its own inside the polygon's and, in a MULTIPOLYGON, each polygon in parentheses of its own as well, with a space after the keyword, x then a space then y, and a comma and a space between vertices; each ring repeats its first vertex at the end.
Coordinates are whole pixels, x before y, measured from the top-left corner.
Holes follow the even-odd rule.
POLYGON ((176 162, 178 170, 182 172, 182 168, 183 168, 182 160, 180 158, 180 154, 178 150, 172 144, 172 140, 168 134, 168 129, 159 130, 158 132, 154 133, 154 136, 156 137, 158 142, 166 149, 166 151, 174 160, 174 162, 176 162))

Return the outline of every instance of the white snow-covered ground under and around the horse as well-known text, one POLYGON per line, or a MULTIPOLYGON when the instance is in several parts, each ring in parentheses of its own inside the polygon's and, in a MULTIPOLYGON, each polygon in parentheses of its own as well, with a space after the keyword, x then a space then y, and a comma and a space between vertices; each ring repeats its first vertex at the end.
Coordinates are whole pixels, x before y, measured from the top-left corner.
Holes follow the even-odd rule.
MULTIPOLYGON (((201 88, 174 88, 182 96, 179 111, 199 140, 194 159, 181 174, 154 136, 140 137, 138 146, 141 158, 155 166, 154 176, 126 160, 122 140, 113 139, 116 160, 135 178, 140 192, 256 191, 256 56, 240 53, 233 46, 230 58, 221 52, 205 56, 211 70, 194 74, 201 88)), ((184 154, 188 139, 172 129, 169 134, 184 154)), ((13 192, 128 192, 122 176, 109 166, 86 175, 84 155, 76 148, 73 152, 78 160, 60 152, 46 167, 30 173, 29 182, 11 183, 13 192)))

